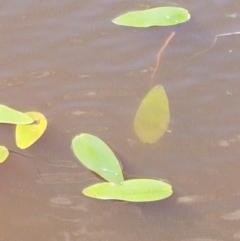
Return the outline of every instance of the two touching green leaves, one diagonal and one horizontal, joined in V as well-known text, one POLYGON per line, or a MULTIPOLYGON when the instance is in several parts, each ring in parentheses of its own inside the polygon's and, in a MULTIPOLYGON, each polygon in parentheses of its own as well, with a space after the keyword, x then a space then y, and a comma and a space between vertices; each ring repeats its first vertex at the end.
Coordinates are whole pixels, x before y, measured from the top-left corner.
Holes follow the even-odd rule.
POLYGON ((111 149, 98 137, 81 134, 72 141, 73 152, 79 161, 108 182, 98 183, 83 190, 86 196, 129 202, 149 202, 172 195, 168 183, 155 179, 124 181, 122 168, 111 149))

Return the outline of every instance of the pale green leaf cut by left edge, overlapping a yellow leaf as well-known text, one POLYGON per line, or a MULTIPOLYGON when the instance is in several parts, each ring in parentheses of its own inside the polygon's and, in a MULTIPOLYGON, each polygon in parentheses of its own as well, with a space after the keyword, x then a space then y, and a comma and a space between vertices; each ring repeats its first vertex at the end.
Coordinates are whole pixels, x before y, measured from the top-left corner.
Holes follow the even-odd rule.
POLYGON ((20 111, 0 105, 0 123, 30 124, 33 123, 33 119, 20 111))

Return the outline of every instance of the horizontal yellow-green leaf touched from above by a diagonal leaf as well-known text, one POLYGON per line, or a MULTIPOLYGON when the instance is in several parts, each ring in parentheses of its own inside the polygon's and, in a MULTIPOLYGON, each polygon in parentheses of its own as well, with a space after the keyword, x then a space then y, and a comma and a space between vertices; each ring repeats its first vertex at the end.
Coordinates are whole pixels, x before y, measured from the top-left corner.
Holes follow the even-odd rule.
POLYGON ((172 193, 170 184, 155 179, 131 179, 122 185, 103 182, 83 190, 83 194, 88 197, 128 202, 157 201, 171 196, 172 193))

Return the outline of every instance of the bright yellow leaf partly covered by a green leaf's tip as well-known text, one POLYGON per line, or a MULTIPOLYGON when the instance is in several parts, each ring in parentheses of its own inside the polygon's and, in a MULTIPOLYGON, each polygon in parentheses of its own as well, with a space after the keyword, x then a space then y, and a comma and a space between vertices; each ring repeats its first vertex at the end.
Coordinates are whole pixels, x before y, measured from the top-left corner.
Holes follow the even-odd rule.
POLYGON ((47 128, 47 119, 39 112, 27 112, 29 117, 34 120, 33 124, 17 125, 16 144, 20 149, 26 149, 36 142, 47 128))

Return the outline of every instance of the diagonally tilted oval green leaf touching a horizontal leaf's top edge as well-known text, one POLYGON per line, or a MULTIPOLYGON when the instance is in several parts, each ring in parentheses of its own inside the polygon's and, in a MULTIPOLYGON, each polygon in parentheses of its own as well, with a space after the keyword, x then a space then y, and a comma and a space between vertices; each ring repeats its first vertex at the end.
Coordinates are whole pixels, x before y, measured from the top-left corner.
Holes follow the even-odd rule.
POLYGON ((105 180, 121 184, 122 168, 111 149, 98 137, 90 134, 75 136, 72 149, 79 161, 105 180))

